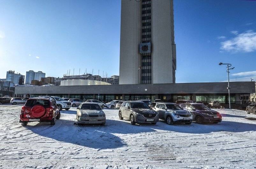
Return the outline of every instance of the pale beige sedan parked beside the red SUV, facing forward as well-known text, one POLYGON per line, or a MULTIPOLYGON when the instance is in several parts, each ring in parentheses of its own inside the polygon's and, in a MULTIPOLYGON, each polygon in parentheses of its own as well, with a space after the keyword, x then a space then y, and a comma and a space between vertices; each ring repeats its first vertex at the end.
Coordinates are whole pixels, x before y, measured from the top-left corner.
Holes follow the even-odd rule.
POLYGON ((106 123, 106 115, 102 110, 104 108, 100 108, 98 103, 94 102, 83 102, 77 108, 77 123, 80 125, 84 124, 105 124, 106 123))

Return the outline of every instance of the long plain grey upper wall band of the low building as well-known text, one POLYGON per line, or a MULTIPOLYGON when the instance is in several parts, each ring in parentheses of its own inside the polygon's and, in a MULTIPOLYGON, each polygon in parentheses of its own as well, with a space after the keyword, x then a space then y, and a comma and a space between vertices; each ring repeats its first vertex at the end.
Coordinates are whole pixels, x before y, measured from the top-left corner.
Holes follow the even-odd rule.
MULTIPOLYGON (((254 82, 230 82, 230 93, 255 93, 254 82)), ((15 94, 200 94, 228 93, 227 82, 15 87, 15 94)))

